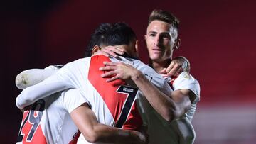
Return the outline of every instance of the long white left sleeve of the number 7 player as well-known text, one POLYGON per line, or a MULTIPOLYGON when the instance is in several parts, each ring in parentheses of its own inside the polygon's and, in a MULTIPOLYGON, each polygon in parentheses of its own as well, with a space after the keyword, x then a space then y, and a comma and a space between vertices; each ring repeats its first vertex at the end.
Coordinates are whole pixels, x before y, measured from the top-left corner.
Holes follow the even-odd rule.
POLYGON ((73 88, 69 78, 70 70, 72 70, 72 64, 67 64, 66 67, 61 68, 57 73, 42 82, 24 89, 16 98, 16 106, 23 109, 38 101, 38 99, 43 99, 64 89, 73 88))

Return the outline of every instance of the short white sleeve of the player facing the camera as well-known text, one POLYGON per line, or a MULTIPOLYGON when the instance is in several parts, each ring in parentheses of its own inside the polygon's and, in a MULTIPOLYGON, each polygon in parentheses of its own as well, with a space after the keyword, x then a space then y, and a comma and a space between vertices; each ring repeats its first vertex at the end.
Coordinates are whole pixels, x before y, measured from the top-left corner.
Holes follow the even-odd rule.
POLYGON ((188 72, 182 72, 174 80, 174 90, 178 89, 190 89, 195 95, 196 100, 193 104, 197 103, 200 99, 200 85, 199 82, 191 76, 188 72))

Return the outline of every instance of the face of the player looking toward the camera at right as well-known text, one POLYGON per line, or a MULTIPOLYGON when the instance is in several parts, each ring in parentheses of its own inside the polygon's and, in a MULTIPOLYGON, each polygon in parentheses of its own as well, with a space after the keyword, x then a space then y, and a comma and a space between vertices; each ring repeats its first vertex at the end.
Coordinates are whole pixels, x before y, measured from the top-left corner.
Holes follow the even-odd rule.
POLYGON ((177 35, 175 28, 164 21, 152 21, 146 29, 146 47, 152 61, 162 62, 172 57, 177 35))

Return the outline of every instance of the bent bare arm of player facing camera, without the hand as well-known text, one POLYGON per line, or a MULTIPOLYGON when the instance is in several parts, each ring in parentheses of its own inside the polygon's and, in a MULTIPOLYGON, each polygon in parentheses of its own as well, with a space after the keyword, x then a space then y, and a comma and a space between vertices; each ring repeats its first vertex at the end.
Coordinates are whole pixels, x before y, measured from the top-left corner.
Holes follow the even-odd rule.
POLYGON ((191 91, 188 89, 176 90, 171 92, 170 95, 166 95, 154 87, 139 70, 131 78, 149 101, 149 104, 166 121, 172 121, 183 116, 191 107, 191 101, 189 99, 191 91))

